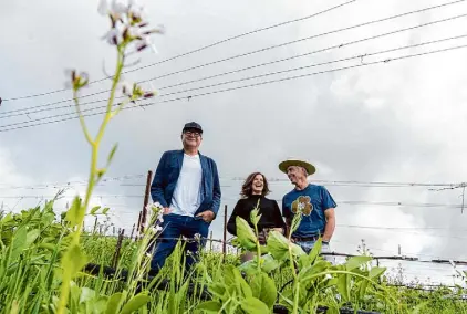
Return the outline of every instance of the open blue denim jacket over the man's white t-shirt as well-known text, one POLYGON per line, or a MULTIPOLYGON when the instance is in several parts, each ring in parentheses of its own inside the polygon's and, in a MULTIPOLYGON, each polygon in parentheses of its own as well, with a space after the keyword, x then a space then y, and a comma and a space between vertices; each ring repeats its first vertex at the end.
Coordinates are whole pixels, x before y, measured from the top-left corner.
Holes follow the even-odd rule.
MULTIPOLYGON (((205 210, 212 210, 217 216, 220 207, 220 184, 216 163, 199 154, 201 163, 201 202, 195 216, 205 210)), ((163 207, 169 207, 172 197, 177 186, 178 177, 184 160, 184 150, 168 150, 160 157, 156 174, 151 185, 151 197, 154 202, 159 202, 163 207)))

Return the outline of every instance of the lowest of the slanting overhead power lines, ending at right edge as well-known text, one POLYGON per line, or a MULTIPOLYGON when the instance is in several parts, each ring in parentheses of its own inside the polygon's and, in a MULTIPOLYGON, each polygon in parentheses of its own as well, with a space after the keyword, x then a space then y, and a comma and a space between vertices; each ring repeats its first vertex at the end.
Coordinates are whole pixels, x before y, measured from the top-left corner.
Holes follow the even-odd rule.
MULTIPOLYGON (((388 57, 388 59, 378 60, 378 61, 374 61, 374 62, 367 62, 367 63, 361 63, 361 64, 355 64, 355 65, 350 65, 350 66, 344 66, 344 67, 338 67, 338 69, 324 70, 324 71, 312 72, 312 73, 307 73, 307 74, 301 74, 301 75, 288 76, 288 77, 282 77, 282 78, 278 78, 278 80, 263 81, 263 82, 259 82, 259 83, 255 83, 255 84, 229 87, 229 88, 225 88, 225 90, 209 91, 209 92, 206 92, 206 93, 193 94, 193 95, 189 95, 189 97, 190 98, 201 97, 201 96, 214 95, 214 94, 218 94, 218 93, 225 93, 225 92, 237 91, 237 90, 243 90, 243 88, 261 86, 261 85, 267 85, 267 84, 272 84, 272 83, 287 82, 287 81, 303 78, 303 77, 308 77, 308 76, 315 76, 315 75, 320 75, 320 74, 324 74, 324 73, 333 73, 333 72, 344 71, 344 70, 351 70, 351 69, 356 69, 356 67, 375 65, 375 64, 380 64, 380 63, 390 63, 390 62, 395 62, 395 61, 399 61, 399 60, 407 60, 407 59, 418 57, 418 56, 423 56, 423 55, 429 55, 429 54, 435 54, 435 53, 440 53, 440 52, 459 50, 459 49, 464 49, 464 48, 467 48, 467 45, 450 46, 450 48, 445 48, 445 49, 439 49, 439 50, 434 50, 434 51, 428 51, 428 52, 423 52, 423 53, 402 55, 402 56, 397 56, 397 57, 388 57)), ((134 109, 134 108, 144 108, 144 107, 148 107, 148 106, 154 106, 154 105, 158 105, 158 104, 163 104, 163 103, 169 103, 169 102, 175 102, 175 101, 180 101, 180 100, 186 100, 186 98, 187 98, 187 96, 181 96, 181 97, 169 98, 169 100, 166 100, 166 101, 154 102, 154 103, 141 103, 136 106, 124 107, 124 108, 122 108, 122 111, 134 109)), ((94 109, 97 109, 97 108, 94 108, 94 109)), ((85 112, 85 111, 93 111, 93 109, 83 109, 81 112, 85 112)), ((105 111, 98 112, 98 113, 92 113, 92 114, 83 114, 83 117, 102 115, 102 114, 105 114, 105 111)), ((70 114, 65 114, 65 115, 70 115, 70 114)), ((63 115, 55 115, 55 116, 51 116, 51 117, 48 117, 48 118, 53 118, 53 117, 59 117, 59 116, 63 116, 63 115)), ((10 130, 14 130, 14 129, 21 129, 21 128, 29 128, 29 127, 34 127, 34 126, 39 126, 39 125, 59 123, 59 122, 70 121, 70 119, 75 119, 75 118, 77 118, 77 116, 65 117, 65 118, 60 118, 60 119, 54 119, 54 121, 46 121, 46 122, 41 122, 41 123, 37 123, 37 124, 31 123, 31 124, 23 125, 23 126, 21 126, 21 125, 24 124, 24 123, 15 123, 15 124, 9 125, 9 126, 11 126, 10 128, 0 129, 0 133, 10 132, 10 130)), ((2 126, 2 127, 6 127, 6 126, 2 126)))

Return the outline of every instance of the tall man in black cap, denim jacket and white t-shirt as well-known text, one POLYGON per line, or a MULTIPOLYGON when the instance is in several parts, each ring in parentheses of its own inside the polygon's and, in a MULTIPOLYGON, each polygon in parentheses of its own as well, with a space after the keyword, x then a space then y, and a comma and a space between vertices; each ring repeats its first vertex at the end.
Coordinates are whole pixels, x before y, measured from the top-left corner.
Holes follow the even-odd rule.
POLYGON ((220 185, 216 163, 198 150, 203 140, 203 128, 190 122, 181 130, 184 148, 165 151, 151 186, 154 202, 164 207, 162 233, 157 239, 151 274, 158 273, 172 254, 180 236, 200 241, 188 241, 185 245, 186 266, 190 269, 195 254, 206 243, 211 221, 220 206, 220 185))

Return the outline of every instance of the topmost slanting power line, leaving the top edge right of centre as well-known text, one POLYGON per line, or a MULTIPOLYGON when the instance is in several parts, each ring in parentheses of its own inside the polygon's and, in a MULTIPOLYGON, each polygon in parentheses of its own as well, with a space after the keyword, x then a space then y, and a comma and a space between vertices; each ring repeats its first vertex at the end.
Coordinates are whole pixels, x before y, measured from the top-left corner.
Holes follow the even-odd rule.
MULTIPOLYGON (((198 48, 198 49, 195 49, 195 50, 191 50, 191 51, 181 53, 181 54, 174 55, 172 57, 168 57, 168 59, 165 59, 165 60, 162 60, 162 61, 152 63, 152 64, 147 64, 147 65, 139 66, 139 67, 136 67, 136 69, 124 71, 123 73, 131 73, 131 72, 139 71, 139 70, 147 69, 147 67, 151 67, 151 66, 155 66, 155 65, 158 65, 158 64, 163 64, 163 63, 166 63, 166 62, 169 62, 169 61, 173 61, 173 60, 183 57, 183 56, 187 56, 187 55, 190 55, 190 54, 194 54, 194 53, 197 53, 197 52, 200 52, 200 51, 204 51, 204 50, 207 50, 207 49, 217 46, 219 44, 222 44, 222 43, 226 43, 226 42, 229 42, 229 41, 232 41, 232 40, 237 40, 237 39, 247 36, 247 35, 251 35, 251 34, 259 33, 259 32, 262 32, 262 31, 266 31, 266 30, 271 30, 271 29, 274 29, 274 28, 279 28, 279 27, 287 25, 287 24, 291 24, 291 23, 304 21, 304 20, 308 20, 308 19, 311 19, 311 18, 315 18, 318 15, 322 15, 324 13, 331 12, 331 11, 333 11, 335 9, 339 9, 341 7, 344 7, 344 6, 350 4, 352 2, 355 2, 355 1, 356 0, 351 0, 351 1, 347 1, 347 2, 344 2, 344 3, 341 3, 341 4, 338 4, 338 6, 328 8, 325 10, 323 10, 323 11, 313 13, 311 15, 307 15, 307 17, 302 17, 302 18, 298 18, 298 19, 293 19, 293 20, 288 20, 288 21, 284 21, 284 22, 280 22, 280 23, 277 23, 277 24, 272 24, 272 25, 266 27, 266 28, 260 28, 260 29, 256 29, 256 30, 252 30, 252 31, 248 31, 248 32, 245 32, 245 33, 241 33, 241 34, 238 34, 238 35, 235 35, 235 36, 230 36, 230 38, 227 38, 227 39, 224 39, 224 40, 214 42, 211 44, 208 44, 208 45, 205 45, 205 46, 201 46, 201 48, 198 48)), ((456 1, 456 2, 463 2, 463 1, 466 1, 466 0, 456 1)), ((452 4, 454 4, 454 3, 455 2, 452 2, 452 4)), ((448 6, 448 3, 446 3, 444 6, 448 6)), ((108 77, 102 77, 100 80, 91 81, 90 84, 102 82, 102 81, 105 81, 107 78, 108 77)), ((19 100, 25 100, 25 98, 45 96, 45 95, 51 95, 51 94, 55 94, 55 93, 60 93, 60 92, 65 92, 65 91, 69 91, 69 90, 70 88, 61 88, 61 90, 55 90, 55 91, 50 91, 50 92, 44 92, 44 93, 39 93, 39 94, 31 94, 31 95, 25 95, 25 96, 10 97, 10 98, 3 100, 3 102, 12 102, 12 101, 19 101, 19 100)))

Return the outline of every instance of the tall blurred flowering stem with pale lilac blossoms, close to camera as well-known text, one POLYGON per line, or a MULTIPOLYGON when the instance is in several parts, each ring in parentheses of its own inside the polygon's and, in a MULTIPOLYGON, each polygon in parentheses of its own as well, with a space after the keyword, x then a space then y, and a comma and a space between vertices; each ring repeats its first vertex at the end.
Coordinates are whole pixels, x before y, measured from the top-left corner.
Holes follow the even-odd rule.
MULTIPOLYGON (((76 113, 79 115, 84 136, 91 146, 91 167, 84 200, 76 196, 72 207, 66 211, 65 216, 65 220, 68 222, 68 226, 72 229, 72 232, 68 236, 70 238, 70 244, 68 245, 61 259, 62 283, 61 294, 59 303, 56 305, 56 312, 59 314, 64 313, 73 278, 79 273, 79 271, 84 266, 87 261, 87 258, 82 247, 80 245, 80 236, 81 224, 84 220, 85 213, 87 212, 93 189, 95 185, 98 184, 98 181, 105 175, 117 149, 117 145, 114 145, 114 147, 108 154, 105 167, 97 166, 98 150, 105 129, 110 121, 115 117, 126 104, 131 102, 136 102, 141 98, 153 97, 155 95, 154 91, 146 92, 137 84, 128 85, 127 83, 121 82, 121 76, 123 67, 125 65, 125 61, 128 56, 128 48, 133 48, 135 49, 135 51, 144 50, 146 46, 149 45, 149 34, 159 33, 160 30, 147 30, 147 22, 143 20, 142 8, 137 7, 133 2, 129 2, 128 4, 124 4, 117 1, 107 3, 107 1, 104 0, 101 1, 100 12, 103 15, 110 18, 111 20, 111 30, 106 34, 106 39, 107 42, 116 49, 116 66, 115 74, 111 78, 112 87, 110 91, 110 98, 107 102, 104 118, 101 123, 101 126, 98 127, 95 137, 91 136, 86 127, 84 117, 80 109, 79 102, 79 92, 89 85, 89 76, 85 73, 79 74, 75 70, 71 71, 70 73, 71 87, 73 90, 73 100, 75 102, 76 113), (121 86, 125 100, 114 105, 114 101, 116 98, 115 94, 117 92, 118 86, 121 86)), ((94 209, 92 209, 91 211, 93 212, 94 209)), ((134 269, 132 269, 132 271, 134 269)), ((125 293, 121 296, 122 299, 126 299, 125 293)), ((117 296, 113 299, 113 302, 116 302, 116 297, 117 296)))

